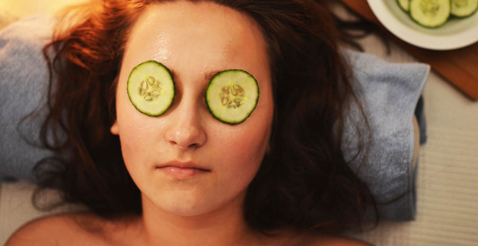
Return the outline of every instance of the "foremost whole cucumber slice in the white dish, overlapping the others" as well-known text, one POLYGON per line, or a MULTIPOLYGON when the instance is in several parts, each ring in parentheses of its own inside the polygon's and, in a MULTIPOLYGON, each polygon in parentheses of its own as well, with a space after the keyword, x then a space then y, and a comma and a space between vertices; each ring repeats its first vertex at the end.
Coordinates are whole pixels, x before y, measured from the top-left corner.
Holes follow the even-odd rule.
POLYGON ((439 27, 450 16, 450 0, 411 0, 410 16, 424 27, 439 27))

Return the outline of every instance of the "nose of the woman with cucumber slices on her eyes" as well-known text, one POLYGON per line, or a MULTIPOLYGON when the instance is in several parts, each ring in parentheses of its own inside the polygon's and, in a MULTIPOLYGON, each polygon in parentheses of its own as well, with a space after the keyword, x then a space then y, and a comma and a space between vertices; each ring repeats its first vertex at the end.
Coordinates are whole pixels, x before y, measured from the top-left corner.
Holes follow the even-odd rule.
POLYGON ((204 145, 206 133, 201 123, 197 104, 181 100, 177 107, 170 109, 169 127, 165 138, 173 147, 188 150, 204 145))

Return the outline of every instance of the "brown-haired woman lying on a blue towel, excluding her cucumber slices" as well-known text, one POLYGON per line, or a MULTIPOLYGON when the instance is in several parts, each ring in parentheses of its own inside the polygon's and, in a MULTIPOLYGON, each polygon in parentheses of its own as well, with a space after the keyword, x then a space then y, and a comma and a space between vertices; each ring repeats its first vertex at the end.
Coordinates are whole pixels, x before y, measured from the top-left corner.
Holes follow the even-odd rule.
POLYGON ((57 85, 51 76, 42 137, 58 156, 39 166, 58 164, 45 186, 61 183, 65 201, 90 212, 33 221, 7 245, 368 245, 337 236, 376 206, 340 149, 358 100, 324 3, 103 0, 64 20, 43 50, 57 85), (174 101, 158 117, 126 90, 147 60, 174 71, 174 101), (204 100, 227 69, 260 90, 236 125, 204 100), (50 128, 66 141, 49 143, 50 128))

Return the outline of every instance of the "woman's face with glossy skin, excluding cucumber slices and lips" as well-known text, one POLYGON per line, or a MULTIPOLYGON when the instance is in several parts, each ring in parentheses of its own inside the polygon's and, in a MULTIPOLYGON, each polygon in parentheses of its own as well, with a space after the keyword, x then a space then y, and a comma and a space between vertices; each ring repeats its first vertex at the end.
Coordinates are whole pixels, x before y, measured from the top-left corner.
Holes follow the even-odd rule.
POLYGON ((215 210, 244 195, 265 154, 272 127, 273 100, 266 44, 246 15, 210 2, 176 1, 148 7, 132 27, 116 95, 123 158, 143 202, 178 215, 215 210), (147 116, 131 104, 127 80, 138 64, 156 60, 178 73, 170 108, 147 116), (209 71, 242 69, 256 78, 260 96, 243 123, 219 122, 204 94, 209 71), (209 169, 175 179, 156 168, 193 161, 209 169))

